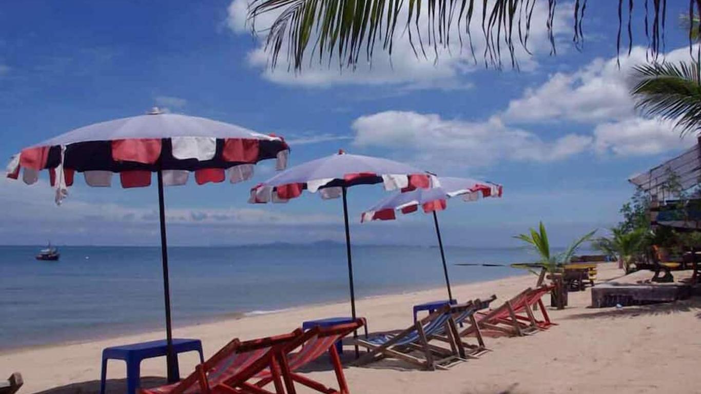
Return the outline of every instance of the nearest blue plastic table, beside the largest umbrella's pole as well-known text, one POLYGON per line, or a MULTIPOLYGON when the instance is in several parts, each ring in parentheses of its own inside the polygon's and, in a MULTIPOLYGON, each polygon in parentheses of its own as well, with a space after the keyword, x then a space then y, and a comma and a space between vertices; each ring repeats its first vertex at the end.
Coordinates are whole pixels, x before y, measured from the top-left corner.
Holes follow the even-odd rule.
MULTIPOLYGON (((175 351, 175 377, 179 379, 177 367, 178 353, 197 351, 200 362, 205 362, 202 354, 202 342, 199 339, 173 339, 175 351)), ((135 394, 141 377, 141 360, 162 357, 168 354, 168 344, 165 339, 160 341, 142 342, 105 348, 102 351, 102 376, 100 377, 100 394, 104 394, 105 379, 107 379, 107 360, 124 360, 127 363, 127 394, 135 394)))

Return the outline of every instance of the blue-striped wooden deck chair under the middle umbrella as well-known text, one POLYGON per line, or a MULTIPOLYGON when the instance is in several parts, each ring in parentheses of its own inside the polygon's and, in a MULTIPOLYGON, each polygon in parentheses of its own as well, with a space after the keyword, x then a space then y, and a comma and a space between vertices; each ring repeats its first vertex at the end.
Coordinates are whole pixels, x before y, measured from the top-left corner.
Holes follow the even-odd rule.
POLYGON ((365 365, 382 358, 396 358, 433 371, 448 369, 458 361, 465 361, 458 352, 459 345, 454 339, 456 330, 451 327, 450 321, 452 313, 457 312, 454 308, 468 307, 466 304, 445 305, 396 334, 379 334, 369 339, 355 339, 353 341, 355 344, 367 348, 369 352, 362 355, 354 364, 365 365), (429 343, 444 333, 449 336, 450 349, 429 343), (423 357, 409 354, 412 352, 421 353, 423 357))

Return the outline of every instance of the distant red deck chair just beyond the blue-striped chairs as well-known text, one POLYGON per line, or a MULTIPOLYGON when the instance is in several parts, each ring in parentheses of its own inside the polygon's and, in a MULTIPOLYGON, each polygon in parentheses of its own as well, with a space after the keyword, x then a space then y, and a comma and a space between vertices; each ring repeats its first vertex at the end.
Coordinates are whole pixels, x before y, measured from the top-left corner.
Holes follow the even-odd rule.
POLYGON ((519 319, 517 315, 517 312, 526 311, 526 314, 529 315, 529 317, 533 316, 533 311, 527 302, 530 294, 531 289, 529 288, 520 292, 512 299, 505 301, 504 304, 501 304, 501 306, 498 306, 491 311, 475 313, 475 322, 473 322, 470 327, 463 330, 463 332, 461 332, 461 336, 522 336, 533 332, 533 330, 538 330, 536 327, 535 318, 532 320, 529 319, 531 324, 528 325, 520 321, 522 319, 519 319))

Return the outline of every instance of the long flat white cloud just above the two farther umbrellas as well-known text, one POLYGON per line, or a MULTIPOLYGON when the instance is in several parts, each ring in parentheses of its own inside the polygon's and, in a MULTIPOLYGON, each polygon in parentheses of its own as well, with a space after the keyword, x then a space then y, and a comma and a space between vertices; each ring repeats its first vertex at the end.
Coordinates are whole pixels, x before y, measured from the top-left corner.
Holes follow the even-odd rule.
POLYGON ((440 165, 489 165, 496 161, 557 161, 582 151, 592 137, 568 134, 545 141, 510 128, 494 116, 484 122, 447 120, 437 114, 384 111, 353 122, 359 146, 411 150, 419 161, 440 165))

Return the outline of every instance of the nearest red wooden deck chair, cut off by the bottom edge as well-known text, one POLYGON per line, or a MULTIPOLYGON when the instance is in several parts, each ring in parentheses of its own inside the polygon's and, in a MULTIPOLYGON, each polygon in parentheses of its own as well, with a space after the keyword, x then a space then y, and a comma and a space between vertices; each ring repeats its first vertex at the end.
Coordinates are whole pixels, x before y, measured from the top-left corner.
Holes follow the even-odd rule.
POLYGON ((280 365, 275 355, 303 335, 301 329, 290 334, 251 341, 233 341, 195 367, 195 372, 178 383, 156 388, 142 388, 142 394, 285 394, 280 365), (271 379, 257 377, 265 371, 271 379), (255 381, 251 383, 251 381, 255 381), (274 383, 275 391, 264 389, 274 383))

